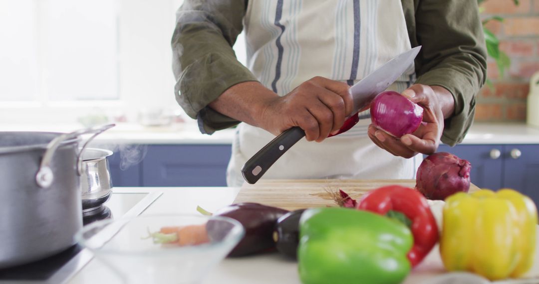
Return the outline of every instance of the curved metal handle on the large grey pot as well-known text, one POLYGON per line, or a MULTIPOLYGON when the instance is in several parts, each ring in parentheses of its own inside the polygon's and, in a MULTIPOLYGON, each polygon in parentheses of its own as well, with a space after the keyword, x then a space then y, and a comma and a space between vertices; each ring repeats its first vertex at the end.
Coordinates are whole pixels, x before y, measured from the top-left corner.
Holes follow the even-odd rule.
MULTIPOLYGON (((43 155, 43 159, 41 160, 41 164, 39 165, 39 170, 36 174, 36 182, 37 185, 41 188, 47 188, 50 187, 52 184, 52 181, 54 180, 54 175, 52 174, 52 169, 50 167, 52 157, 54 155, 54 152, 56 152, 57 148, 60 146, 60 144, 69 139, 77 138, 82 134, 88 134, 88 133, 95 133, 92 137, 90 137, 86 143, 84 144, 84 147, 88 145, 89 141, 95 138, 95 136, 98 136, 101 132, 113 127, 115 124, 107 124, 103 126, 94 126, 89 127, 86 129, 80 129, 77 131, 73 131, 71 133, 65 133, 61 134, 60 136, 52 139, 49 144, 47 144, 45 155, 43 155)), ((84 147, 83 150, 84 150, 84 147)), ((80 151, 79 155, 77 156, 77 173, 80 175, 81 173, 81 156, 82 150, 80 151)))

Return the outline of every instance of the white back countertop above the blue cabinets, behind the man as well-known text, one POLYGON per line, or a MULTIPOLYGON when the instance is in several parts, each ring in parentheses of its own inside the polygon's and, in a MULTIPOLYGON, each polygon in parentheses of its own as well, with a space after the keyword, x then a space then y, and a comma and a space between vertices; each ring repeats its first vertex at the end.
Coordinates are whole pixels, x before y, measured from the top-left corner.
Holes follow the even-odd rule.
MULTIPOLYGON (((0 124, 0 131, 59 131, 84 128, 81 125, 0 124)), ((195 123, 172 126, 118 124, 97 136, 103 144, 231 144, 235 129, 202 134, 195 123)), ((269 141, 268 141, 269 142, 269 141)), ((539 144, 539 128, 524 123, 476 123, 462 144, 539 144)))

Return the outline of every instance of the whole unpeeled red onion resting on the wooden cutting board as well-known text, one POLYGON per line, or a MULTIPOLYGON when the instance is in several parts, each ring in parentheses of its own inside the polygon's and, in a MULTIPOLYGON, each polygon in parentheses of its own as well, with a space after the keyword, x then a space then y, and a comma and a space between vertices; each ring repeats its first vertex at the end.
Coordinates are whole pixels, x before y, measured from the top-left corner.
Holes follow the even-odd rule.
POLYGON ((470 188, 471 169, 467 160, 446 152, 434 153, 419 165, 416 188, 430 200, 444 200, 459 191, 466 193, 470 188))

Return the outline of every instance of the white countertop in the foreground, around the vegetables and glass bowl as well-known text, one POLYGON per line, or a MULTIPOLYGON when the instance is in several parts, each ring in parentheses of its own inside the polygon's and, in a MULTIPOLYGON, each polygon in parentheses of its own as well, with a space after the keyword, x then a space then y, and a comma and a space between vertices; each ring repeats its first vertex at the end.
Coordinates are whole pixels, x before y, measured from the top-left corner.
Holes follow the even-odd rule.
MULTIPOLYGON (((148 207, 142 215, 150 214, 198 214, 197 205, 208 211, 231 204, 239 188, 226 187, 185 187, 185 188, 114 188, 115 192, 161 191, 163 194, 148 207)), ((537 261, 532 271, 539 271, 537 261)), ((441 259, 436 247, 431 254, 408 276, 404 283, 421 283, 433 274, 443 272, 441 259)), ((68 282, 70 284, 121 283, 102 262, 92 259, 68 282)), ((252 257, 225 259, 213 269, 204 284, 300 284, 297 264, 282 258, 278 253, 255 255, 252 257)), ((506 283, 506 282, 504 282, 506 283)), ((528 283, 528 282, 522 282, 528 283)), ((531 283, 531 282, 529 282, 531 283)))

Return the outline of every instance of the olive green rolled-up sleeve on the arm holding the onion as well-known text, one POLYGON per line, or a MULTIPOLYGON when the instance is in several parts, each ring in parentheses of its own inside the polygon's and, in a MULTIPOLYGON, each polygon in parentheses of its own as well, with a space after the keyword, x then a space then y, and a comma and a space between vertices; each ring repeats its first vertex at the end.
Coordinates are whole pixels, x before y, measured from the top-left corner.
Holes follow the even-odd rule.
POLYGON ((464 139, 472 125, 475 96, 486 80, 486 47, 476 1, 419 1, 415 15, 417 83, 451 92, 455 111, 445 120, 441 140, 464 139))

